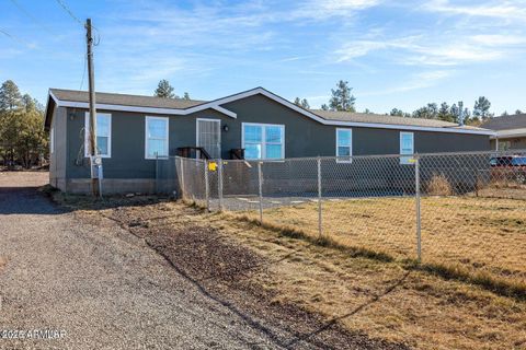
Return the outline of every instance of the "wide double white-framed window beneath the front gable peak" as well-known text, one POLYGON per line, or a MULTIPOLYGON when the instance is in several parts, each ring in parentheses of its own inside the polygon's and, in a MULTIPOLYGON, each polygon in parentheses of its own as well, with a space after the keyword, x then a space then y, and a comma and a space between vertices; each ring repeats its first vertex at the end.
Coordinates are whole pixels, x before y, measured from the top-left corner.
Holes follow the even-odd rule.
POLYGON ((285 126, 242 124, 242 148, 248 160, 282 160, 285 158, 285 126))

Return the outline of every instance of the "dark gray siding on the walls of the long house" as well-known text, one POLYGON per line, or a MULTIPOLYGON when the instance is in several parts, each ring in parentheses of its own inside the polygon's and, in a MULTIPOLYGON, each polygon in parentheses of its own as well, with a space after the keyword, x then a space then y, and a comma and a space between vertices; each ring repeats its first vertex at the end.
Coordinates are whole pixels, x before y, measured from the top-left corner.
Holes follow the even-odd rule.
MULTIPOLYGON (((179 147, 196 144, 196 119, 221 120, 221 153, 229 158, 231 149, 241 148, 242 122, 285 125, 285 156, 335 155, 335 127, 323 126, 265 96, 254 95, 224 105, 237 113, 230 118, 207 109, 187 116, 170 116, 169 150, 174 155, 179 147), (229 131, 222 127, 228 125, 229 131)), ((112 158, 104 159, 105 178, 155 178, 156 161, 145 160, 145 114, 106 112, 112 115, 112 158)), ((83 109, 68 109, 67 171, 68 178, 88 178, 89 167, 83 156, 83 109)), ((398 154, 400 130, 353 128, 353 153, 398 154)), ((488 136, 414 131, 415 151, 451 152, 489 150, 488 136)))

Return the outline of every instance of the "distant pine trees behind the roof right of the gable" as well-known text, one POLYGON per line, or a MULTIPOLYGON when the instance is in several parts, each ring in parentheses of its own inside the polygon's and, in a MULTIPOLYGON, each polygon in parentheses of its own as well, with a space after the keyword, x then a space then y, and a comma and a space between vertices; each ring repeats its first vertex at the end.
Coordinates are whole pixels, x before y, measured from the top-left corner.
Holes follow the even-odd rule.
MULTIPOLYGON (((356 97, 354 97, 352 91, 353 88, 348 85, 347 81, 340 80, 336 83, 335 89, 331 89, 331 98, 329 100, 329 103, 321 105, 321 109, 356 113, 356 97)), ((310 108, 309 102, 306 98, 296 97, 294 103, 305 109, 310 108)), ((462 102, 458 102, 458 104, 454 103, 451 105, 447 102, 443 102, 439 105, 433 102, 411 113, 392 108, 389 115, 407 118, 437 119, 466 125, 480 125, 482 121, 494 117, 494 114, 491 113, 490 109, 491 102, 485 96, 480 96, 474 101, 472 109, 465 107, 462 102)), ((364 113, 368 114, 371 112, 366 108, 364 113)), ((515 114, 522 114, 522 110, 517 109, 515 110, 515 114)), ((504 112, 502 115, 507 115, 507 112, 504 112)))

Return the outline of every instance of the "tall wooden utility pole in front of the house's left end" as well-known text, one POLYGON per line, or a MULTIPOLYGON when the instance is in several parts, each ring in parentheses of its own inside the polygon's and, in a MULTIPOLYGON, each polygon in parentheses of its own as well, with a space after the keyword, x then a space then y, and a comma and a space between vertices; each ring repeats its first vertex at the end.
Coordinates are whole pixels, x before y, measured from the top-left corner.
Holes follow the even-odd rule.
POLYGON ((91 167, 91 191, 93 197, 100 196, 99 174, 95 172, 95 160, 100 160, 96 151, 96 110, 95 110, 95 82, 93 72, 93 37, 91 33, 91 19, 85 21, 85 44, 88 49, 88 79, 90 90, 90 167, 91 167))

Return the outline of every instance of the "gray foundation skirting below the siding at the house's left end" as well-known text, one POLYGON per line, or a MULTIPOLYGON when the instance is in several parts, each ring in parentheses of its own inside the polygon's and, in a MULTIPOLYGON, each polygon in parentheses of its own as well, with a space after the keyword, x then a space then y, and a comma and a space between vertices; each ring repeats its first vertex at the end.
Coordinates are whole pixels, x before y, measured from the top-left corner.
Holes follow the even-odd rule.
MULTIPOLYGON (((91 179, 90 178, 70 178, 66 180, 62 191, 69 194, 90 194, 91 179)), ((104 178, 102 180, 102 194, 155 194, 156 179, 155 178, 104 178)))

